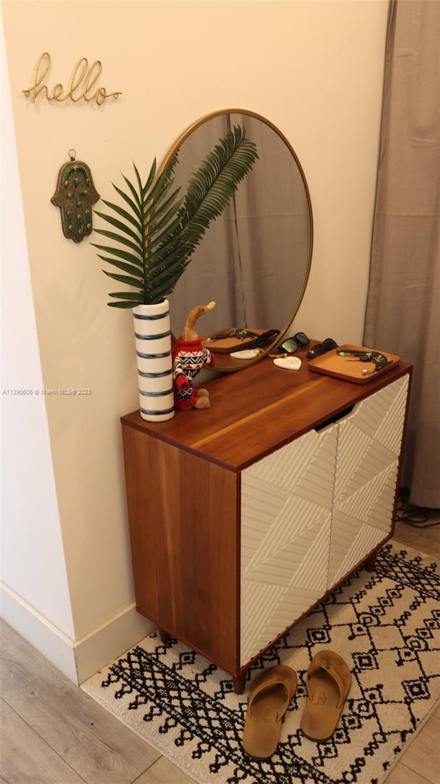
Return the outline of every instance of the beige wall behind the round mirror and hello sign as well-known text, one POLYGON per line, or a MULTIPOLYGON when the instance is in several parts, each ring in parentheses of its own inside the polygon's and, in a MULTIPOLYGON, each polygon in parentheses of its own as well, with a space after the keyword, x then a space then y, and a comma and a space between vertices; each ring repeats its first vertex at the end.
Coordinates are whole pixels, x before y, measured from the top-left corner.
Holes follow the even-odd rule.
POLYGON ((75 148, 100 195, 113 198, 120 172, 130 175, 135 161, 146 176, 195 118, 235 106, 271 119, 300 158, 314 209, 311 276, 294 326, 356 342, 387 2, 13 0, 2 10, 43 384, 92 390, 45 398, 78 641, 133 604, 118 420, 137 396, 130 315, 106 307, 111 289, 89 238, 67 241, 50 203, 67 151, 75 148), (51 87, 66 85, 85 56, 103 64, 99 85, 122 96, 101 107, 31 103, 22 91, 43 52, 51 87))

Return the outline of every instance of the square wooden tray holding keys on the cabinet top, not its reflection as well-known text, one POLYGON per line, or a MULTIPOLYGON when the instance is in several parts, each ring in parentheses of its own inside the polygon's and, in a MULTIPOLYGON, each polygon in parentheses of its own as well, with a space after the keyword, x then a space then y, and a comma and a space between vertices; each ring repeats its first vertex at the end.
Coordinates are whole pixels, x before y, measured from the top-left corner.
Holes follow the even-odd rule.
POLYGON ((382 373, 394 368, 395 365, 401 360, 397 354, 388 354, 387 351, 380 351, 384 357, 391 360, 389 365, 378 370, 376 373, 369 373, 368 376, 362 376, 362 369, 373 370, 373 362, 351 361, 354 357, 340 357, 336 354, 337 350, 343 351, 378 351, 378 349, 365 348, 365 346, 353 346, 351 343, 345 343, 344 346, 338 346, 327 354, 322 354, 321 357, 311 359, 308 366, 311 370, 317 373, 324 373, 326 376, 336 376, 336 379, 344 379, 344 381, 352 381, 355 384, 368 384, 369 381, 376 379, 382 373))

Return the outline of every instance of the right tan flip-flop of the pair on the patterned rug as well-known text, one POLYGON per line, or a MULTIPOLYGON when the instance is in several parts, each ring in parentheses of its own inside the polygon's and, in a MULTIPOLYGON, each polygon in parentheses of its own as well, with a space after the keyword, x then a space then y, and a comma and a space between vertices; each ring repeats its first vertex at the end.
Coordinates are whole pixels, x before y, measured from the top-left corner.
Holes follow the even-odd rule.
POLYGON ((351 686, 351 672, 339 654, 319 651, 307 670, 308 699, 301 731, 311 740, 332 737, 351 686))

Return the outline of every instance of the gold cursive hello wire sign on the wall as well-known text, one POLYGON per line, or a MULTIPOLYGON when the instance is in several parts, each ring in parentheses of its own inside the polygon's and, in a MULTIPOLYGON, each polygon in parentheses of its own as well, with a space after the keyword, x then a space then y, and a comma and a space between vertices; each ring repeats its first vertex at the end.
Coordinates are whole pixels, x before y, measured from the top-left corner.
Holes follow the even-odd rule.
POLYGON ((52 89, 45 84, 45 79, 49 72, 50 55, 44 52, 40 56, 34 72, 34 82, 31 87, 23 90, 27 98, 31 98, 32 103, 35 103, 39 95, 42 95, 49 101, 58 101, 59 103, 65 100, 71 100, 78 103, 80 100, 87 102, 95 101, 98 106, 102 106, 104 100, 113 96, 117 98, 122 93, 107 93, 104 87, 97 87, 96 82, 100 78, 102 71, 102 64, 100 60, 95 60, 93 65, 89 66, 88 60, 82 57, 75 65, 75 69, 71 76, 71 81, 67 87, 58 83, 53 85, 52 89))

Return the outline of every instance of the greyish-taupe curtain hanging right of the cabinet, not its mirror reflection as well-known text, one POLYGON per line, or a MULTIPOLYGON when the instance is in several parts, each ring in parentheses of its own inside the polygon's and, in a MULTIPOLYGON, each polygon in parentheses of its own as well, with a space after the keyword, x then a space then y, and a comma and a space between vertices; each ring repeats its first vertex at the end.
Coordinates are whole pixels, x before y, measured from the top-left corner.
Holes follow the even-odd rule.
POLYGON ((391 0, 364 342, 414 365, 401 486, 440 507, 440 2, 391 0))

